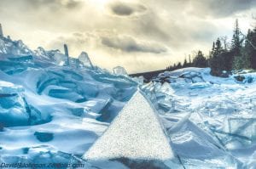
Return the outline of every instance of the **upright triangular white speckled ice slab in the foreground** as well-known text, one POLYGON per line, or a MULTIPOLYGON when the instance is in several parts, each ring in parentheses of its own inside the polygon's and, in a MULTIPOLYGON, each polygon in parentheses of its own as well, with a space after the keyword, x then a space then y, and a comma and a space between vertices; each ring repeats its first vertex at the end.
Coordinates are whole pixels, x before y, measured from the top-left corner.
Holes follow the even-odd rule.
POLYGON ((84 154, 86 160, 172 159, 172 149, 154 109, 137 92, 113 120, 107 131, 84 154))

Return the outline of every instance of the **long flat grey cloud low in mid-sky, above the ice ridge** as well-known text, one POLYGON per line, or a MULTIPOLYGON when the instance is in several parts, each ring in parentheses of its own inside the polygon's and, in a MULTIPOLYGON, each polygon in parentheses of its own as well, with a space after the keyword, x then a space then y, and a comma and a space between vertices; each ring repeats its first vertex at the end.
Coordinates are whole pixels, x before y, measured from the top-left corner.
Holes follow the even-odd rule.
POLYGON ((102 44, 108 48, 119 49, 123 52, 139 52, 139 53, 165 53, 165 47, 156 43, 138 42, 133 37, 102 37, 102 44))

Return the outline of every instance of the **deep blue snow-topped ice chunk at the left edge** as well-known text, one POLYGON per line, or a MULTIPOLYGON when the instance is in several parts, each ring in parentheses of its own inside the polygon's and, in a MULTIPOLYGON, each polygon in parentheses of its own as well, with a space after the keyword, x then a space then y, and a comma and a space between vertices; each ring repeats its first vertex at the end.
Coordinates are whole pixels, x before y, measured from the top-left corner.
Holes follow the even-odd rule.
POLYGON ((3 127, 26 126, 44 121, 49 121, 49 117, 43 119, 37 109, 27 104, 23 87, 0 81, 0 131, 3 127))

